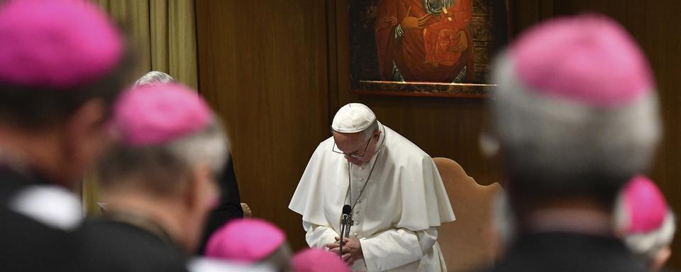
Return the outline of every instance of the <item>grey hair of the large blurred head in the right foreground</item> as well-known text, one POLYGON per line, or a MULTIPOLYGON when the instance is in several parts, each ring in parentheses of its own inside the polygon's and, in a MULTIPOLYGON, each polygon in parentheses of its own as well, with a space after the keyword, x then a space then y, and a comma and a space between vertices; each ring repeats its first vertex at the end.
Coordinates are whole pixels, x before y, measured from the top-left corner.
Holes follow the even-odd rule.
POLYGON ((661 133, 654 91, 616 108, 589 106, 528 90, 513 64, 507 52, 495 63, 492 120, 509 171, 535 181, 528 188, 560 194, 605 186, 614 198, 648 167, 661 133))

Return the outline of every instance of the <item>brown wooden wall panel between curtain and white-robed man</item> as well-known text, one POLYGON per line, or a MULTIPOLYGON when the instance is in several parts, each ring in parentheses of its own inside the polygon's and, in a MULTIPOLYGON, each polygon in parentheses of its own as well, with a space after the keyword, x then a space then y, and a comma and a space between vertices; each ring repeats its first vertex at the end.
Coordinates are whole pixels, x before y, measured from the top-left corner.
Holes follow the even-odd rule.
POLYGON ((199 91, 228 126, 242 200, 295 249, 301 217, 287 206, 328 137, 326 4, 196 1, 199 91))

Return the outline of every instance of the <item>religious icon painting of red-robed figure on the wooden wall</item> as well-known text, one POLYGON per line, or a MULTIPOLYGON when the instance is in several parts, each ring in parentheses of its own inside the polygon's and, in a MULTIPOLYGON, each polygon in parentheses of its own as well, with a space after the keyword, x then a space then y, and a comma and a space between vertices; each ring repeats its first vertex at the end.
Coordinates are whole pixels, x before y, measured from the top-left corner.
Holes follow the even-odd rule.
POLYGON ((485 98, 506 0, 350 0, 350 90, 485 98))

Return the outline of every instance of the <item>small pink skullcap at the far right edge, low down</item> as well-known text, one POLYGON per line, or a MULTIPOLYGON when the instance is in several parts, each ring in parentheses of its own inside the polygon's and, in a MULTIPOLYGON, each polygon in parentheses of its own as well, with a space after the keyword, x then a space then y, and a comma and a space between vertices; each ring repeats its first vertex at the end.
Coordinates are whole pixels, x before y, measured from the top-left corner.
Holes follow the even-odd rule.
POLYGON ((659 229, 668 214, 665 197, 658 186, 645 176, 636 176, 622 189, 619 199, 624 213, 624 232, 646 233, 659 229))

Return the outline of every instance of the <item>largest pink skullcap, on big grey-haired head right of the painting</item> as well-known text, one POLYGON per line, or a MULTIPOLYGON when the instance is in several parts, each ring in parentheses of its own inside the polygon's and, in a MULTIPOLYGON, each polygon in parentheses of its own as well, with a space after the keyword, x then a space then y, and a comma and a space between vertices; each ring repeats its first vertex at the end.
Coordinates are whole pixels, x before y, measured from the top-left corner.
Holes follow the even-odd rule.
POLYGON ((605 16, 543 23, 521 35, 510 55, 521 84, 546 96, 616 107, 654 88, 643 52, 605 16))

